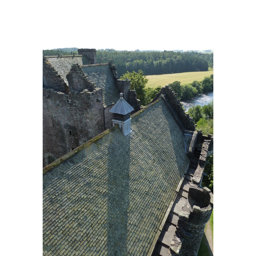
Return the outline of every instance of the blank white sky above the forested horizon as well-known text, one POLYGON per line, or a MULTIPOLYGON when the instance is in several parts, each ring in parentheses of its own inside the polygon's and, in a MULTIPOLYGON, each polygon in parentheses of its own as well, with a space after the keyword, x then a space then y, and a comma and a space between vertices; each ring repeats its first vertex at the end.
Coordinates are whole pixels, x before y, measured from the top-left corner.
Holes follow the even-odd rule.
POLYGON ((43 3, 43 8, 56 10, 45 12, 43 49, 214 49, 211 2, 95 0, 76 5, 69 10, 43 3))

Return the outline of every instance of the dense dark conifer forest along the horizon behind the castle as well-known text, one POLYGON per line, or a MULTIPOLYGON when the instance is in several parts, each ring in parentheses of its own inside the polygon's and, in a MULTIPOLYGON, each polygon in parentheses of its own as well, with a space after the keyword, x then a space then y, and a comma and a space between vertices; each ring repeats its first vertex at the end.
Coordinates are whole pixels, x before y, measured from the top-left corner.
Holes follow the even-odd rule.
MULTIPOLYGON (((73 55, 77 48, 43 50, 43 55, 73 55)), ((145 76, 171 73, 207 71, 213 67, 213 53, 174 51, 116 51, 101 49, 96 53, 97 61, 107 63, 113 59, 118 76, 128 72, 143 71, 145 76)))

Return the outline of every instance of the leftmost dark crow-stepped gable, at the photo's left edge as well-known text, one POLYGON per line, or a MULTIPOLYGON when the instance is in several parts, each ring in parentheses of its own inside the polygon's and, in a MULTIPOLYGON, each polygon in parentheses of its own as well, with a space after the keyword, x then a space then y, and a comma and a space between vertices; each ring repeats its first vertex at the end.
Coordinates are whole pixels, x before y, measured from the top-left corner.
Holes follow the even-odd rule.
POLYGON ((45 57, 43 57, 43 87, 68 93, 68 86, 64 79, 45 57))

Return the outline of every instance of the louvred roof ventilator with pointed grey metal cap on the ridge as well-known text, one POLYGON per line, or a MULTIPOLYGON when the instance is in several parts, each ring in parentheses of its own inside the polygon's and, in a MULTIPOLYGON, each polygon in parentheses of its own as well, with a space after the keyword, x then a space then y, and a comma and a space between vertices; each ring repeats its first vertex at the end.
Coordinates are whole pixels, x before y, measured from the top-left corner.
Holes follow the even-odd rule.
POLYGON ((118 124, 119 128, 122 130, 123 134, 126 136, 131 133, 131 111, 134 111, 134 108, 125 101, 122 97, 123 94, 120 93, 120 99, 116 104, 111 108, 109 112, 114 113, 114 119, 112 119, 113 126, 118 124))

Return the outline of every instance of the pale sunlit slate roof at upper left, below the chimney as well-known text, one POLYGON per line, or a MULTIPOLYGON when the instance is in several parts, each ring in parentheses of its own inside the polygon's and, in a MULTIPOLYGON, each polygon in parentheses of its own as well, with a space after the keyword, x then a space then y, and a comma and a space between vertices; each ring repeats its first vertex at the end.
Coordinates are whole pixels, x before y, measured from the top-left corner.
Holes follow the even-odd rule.
POLYGON ((61 57, 58 56, 45 56, 47 60, 55 67, 55 70, 58 71, 59 75, 67 82, 67 73, 70 71, 72 64, 87 65, 90 64, 89 59, 86 56, 82 55, 64 55, 61 57))

